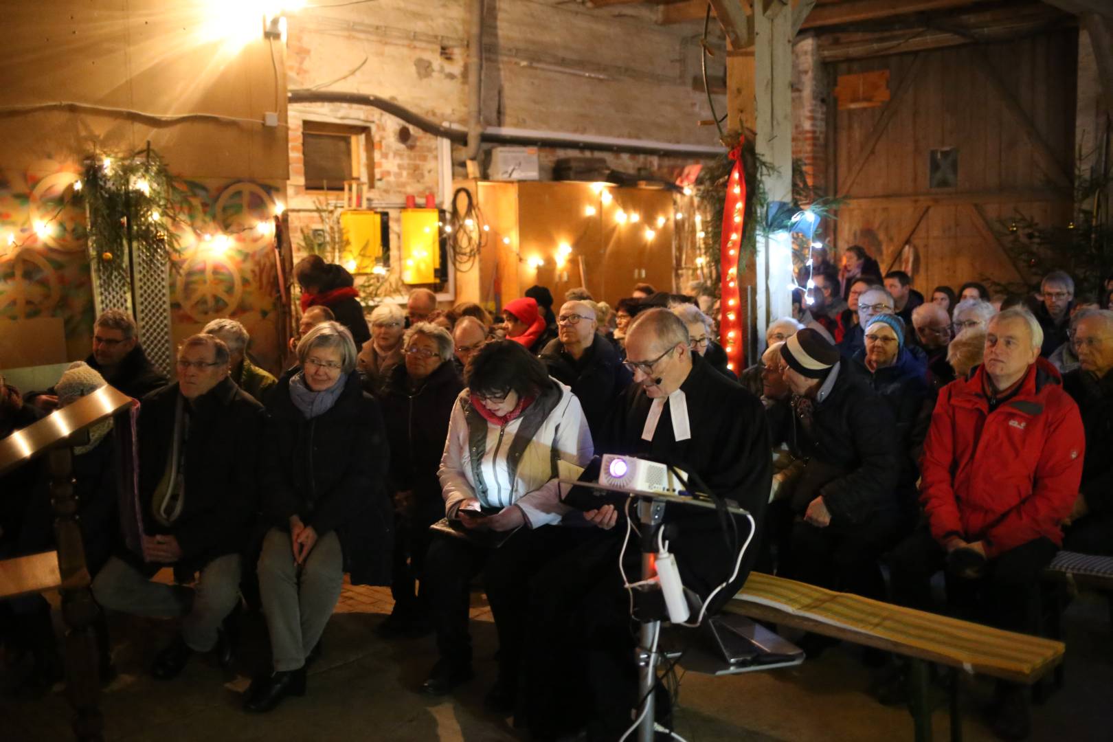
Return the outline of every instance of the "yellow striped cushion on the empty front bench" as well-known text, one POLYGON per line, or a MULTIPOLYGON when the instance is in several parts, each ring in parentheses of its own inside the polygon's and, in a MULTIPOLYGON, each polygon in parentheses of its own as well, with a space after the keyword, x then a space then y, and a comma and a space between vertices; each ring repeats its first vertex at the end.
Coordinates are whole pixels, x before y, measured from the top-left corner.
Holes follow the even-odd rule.
MULTIPOLYGON (((1032 682, 1058 664, 1065 649, 1062 642, 1054 640, 836 593, 758 572, 750 573, 735 601, 723 610, 748 614, 745 603, 787 614, 781 616, 786 620, 780 621, 786 625, 792 625, 791 617, 797 616, 857 634, 866 639, 863 643, 869 646, 1022 682, 1032 682)), ((768 612, 761 613, 755 617, 778 621, 768 612)), ((804 627, 823 633, 815 626, 804 627)))

